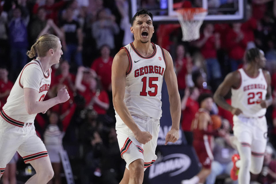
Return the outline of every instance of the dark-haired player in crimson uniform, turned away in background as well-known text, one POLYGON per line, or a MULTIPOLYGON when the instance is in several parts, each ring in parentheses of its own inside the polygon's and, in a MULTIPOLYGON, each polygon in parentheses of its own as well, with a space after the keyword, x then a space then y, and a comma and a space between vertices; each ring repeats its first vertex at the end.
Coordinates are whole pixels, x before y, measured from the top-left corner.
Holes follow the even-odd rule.
POLYGON ((188 180, 182 180, 181 184, 203 184, 211 173, 211 164, 214 160, 210 147, 211 136, 214 131, 210 127, 212 120, 210 111, 213 106, 213 98, 209 93, 203 93, 198 97, 200 109, 193 119, 191 130, 193 131, 193 147, 196 150, 202 170, 188 180))

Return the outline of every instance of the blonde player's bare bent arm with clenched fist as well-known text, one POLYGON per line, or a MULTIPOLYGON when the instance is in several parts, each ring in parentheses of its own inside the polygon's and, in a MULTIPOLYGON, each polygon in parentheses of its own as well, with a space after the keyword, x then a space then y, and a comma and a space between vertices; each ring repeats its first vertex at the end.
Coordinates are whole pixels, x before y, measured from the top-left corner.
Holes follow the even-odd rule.
POLYGON ((66 102, 70 98, 65 86, 58 91, 56 97, 46 101, 37 101, 38 94, 38 91, 35 89, 24 88, 25 108, 28 114, 45 113, 49 108, 56 104, 66 102))

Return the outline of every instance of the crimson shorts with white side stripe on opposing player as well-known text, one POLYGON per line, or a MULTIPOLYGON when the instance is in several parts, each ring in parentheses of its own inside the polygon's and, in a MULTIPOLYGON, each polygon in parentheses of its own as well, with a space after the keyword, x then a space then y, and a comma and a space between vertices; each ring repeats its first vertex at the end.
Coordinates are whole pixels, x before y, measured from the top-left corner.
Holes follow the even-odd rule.
POLYGON ((204 168, 210 169, 214 156, 208 141, 208 136, 204 135, 203 140, 194 140, 193 147, 196 150, 198 159, 204 168))

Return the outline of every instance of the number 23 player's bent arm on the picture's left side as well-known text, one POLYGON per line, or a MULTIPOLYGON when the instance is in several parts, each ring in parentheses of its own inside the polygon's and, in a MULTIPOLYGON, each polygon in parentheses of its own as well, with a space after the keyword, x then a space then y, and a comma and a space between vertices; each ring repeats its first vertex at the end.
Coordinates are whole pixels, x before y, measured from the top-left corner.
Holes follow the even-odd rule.
POLYGON ((238 108, 234 108, 225 101, 225 96, 230 91, 231 87, 237 88, 240 85, 241 76, 238 71, 227 74, 224 81, 218 86, 218 89, 214 93, 214 101, 218 106, 225 110, 230 111, 233 115, 239 115, 242 111, 238 108))

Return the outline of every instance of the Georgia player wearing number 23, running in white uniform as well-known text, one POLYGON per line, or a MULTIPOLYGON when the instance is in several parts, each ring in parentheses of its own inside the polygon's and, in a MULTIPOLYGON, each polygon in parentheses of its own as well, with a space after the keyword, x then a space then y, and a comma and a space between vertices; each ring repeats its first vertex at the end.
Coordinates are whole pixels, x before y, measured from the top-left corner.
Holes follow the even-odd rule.
POLYGON ((246 51, 248 65, 229 73, 214 94, 215 102, 232 112, 235 145, 239 155, 233 155, 231 178, 239 184, 249 184, 250 172, 259 174, 262 170, 267 144, 267 121, 265 113, 272 104, 271 77, 263 70, 266 59, 258 48, 246 51), (224 96, 232 93, 231 105, 224 96))

